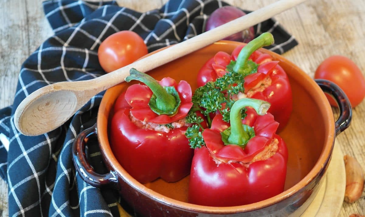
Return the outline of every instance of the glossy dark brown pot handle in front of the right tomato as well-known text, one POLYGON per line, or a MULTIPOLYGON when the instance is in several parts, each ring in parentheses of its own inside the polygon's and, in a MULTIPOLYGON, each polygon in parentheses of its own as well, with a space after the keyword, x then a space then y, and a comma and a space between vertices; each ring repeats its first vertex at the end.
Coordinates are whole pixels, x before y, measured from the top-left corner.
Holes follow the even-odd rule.
POLYGON ((350 100, 347 98, 345 92, 343 92, 343 90, 341 90, 341 88, 337 86, 337 84, 324 79, 315 79, 315 82, 319 85, 323 92, 330 94, 338 104, 338 107, 340 109, 340 116, 335 122, 335 131, 337 136, 350 126, 352 118, 350 100))

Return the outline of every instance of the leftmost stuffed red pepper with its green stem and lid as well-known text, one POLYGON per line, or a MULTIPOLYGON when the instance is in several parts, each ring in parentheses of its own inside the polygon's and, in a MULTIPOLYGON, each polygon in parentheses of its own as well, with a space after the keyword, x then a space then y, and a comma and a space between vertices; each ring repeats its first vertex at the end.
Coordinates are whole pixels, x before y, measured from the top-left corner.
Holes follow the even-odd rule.
POLYGON ((139 182, 158 177, 178 181, 189 174, 193 157, 184 135, 191 87, 172 78, 157 82, 134 69, 130 74, 126 81, 139 80, 147 86, 133 84, 116 100, 110 128, 113 153, 139 182))

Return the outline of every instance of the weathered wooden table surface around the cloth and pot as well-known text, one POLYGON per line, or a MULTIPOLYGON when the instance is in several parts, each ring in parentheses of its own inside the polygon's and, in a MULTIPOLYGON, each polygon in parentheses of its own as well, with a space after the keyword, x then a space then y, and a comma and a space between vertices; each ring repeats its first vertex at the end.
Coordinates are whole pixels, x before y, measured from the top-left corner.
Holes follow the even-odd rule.
MULTIPOLYGON (((166 0, 118 0, 137 11, 161 7, 166 0)), ((255 10, 275 0, 226 0, 243 9, 255 10), (252 4, 252 3, 255 4, 252 4)), ((284 54, 311 77, 331 55, 352 59, 365 74, 365 0, 308 0, 274 17, 295 36, 299 45, 284 54)), ((51 28, 44 17, 42 0, 0 1, 0 108, 14 99, 23 61, 48 37, 51 28)), ((338 111, 334 109, 335 117, 338 111)), ((344 154, 354 156, 365 169, 365 102, 353 109, 351 126, 336 139, 344 154)), ((0 214, 8 216, 8 187, 0 181, 0 214), (2 210, 2 212, 1 212, 2 210)), ((364 192, 357 202, 343 203, 339 216, 365 214, 364 192)))

